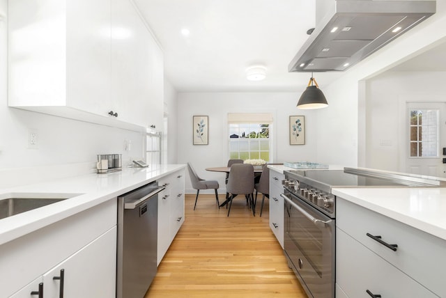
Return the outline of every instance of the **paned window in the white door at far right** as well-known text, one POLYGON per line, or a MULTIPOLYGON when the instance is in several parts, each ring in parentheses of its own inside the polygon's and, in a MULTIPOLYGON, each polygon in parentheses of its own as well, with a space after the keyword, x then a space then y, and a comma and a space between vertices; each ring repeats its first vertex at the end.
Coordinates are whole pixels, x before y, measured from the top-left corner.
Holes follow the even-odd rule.
POLYGON ((410 157, 438 157, 437 109, 410 109, 410 157))

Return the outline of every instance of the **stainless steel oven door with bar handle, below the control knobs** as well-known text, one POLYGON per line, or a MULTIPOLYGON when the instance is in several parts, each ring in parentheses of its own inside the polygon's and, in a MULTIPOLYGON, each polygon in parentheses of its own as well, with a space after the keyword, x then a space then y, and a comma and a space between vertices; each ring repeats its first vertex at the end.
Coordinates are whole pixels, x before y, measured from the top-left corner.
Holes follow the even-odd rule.
POLYGON ((334 219, 285 190, 284 251, 308 297, 334 297, 334 219))

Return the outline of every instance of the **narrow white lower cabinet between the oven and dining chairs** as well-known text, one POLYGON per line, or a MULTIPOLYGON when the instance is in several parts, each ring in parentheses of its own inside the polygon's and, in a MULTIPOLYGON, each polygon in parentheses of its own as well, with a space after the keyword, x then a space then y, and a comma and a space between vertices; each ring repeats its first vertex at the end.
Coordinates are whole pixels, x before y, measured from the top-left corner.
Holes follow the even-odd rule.
POLYGON ((270 228, 282 249, 284 248, 284 188, 282 180, 285 179, 283 173, 270 169, 270 228))

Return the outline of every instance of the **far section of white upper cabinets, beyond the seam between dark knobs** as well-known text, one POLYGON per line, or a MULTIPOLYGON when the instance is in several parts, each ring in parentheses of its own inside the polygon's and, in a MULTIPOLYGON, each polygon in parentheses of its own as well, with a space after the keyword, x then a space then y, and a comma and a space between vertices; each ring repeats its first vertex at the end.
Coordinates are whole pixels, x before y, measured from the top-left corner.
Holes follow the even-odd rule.
POLYGON ((132 1, 112 1, 112 102, 122 120, 157 130, 163 116, 160 52, 132 1))

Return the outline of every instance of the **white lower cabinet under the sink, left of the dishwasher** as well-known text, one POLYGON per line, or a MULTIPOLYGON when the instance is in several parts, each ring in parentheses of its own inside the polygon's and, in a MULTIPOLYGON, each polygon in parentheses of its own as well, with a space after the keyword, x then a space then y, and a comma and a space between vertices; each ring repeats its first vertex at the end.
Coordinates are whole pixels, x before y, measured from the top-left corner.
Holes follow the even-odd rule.
POLYGON ((116 199, 0 246, 0 297, 116 295, 116 199), (54 279, 56 277, 56 279, 54 279), (38 292, 43 283, 43 295, 38 292))

